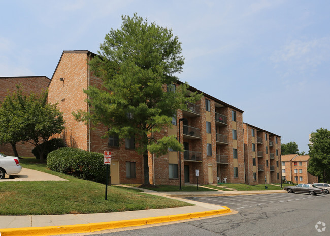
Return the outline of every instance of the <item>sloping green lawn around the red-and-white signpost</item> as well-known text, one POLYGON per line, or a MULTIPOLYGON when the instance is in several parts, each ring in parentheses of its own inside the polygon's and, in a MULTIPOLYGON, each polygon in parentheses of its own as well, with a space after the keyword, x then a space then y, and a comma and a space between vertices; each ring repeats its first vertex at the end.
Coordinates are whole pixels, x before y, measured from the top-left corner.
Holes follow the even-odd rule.
POLYGON ((56 215, 120 212, 191 205, 133 189, 80 180, 47 169, 36 159, 20 159, 25 168, 60 176, 68 181, 8 181, 0 183, 0 215, 56 215))

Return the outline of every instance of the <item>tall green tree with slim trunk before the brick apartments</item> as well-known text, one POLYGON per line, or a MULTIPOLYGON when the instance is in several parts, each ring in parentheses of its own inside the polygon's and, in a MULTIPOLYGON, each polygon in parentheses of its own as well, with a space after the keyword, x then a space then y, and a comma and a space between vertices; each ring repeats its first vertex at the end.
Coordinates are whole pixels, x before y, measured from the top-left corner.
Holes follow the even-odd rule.
POLYGON ((122 16, 121 28, 110 30, 98 54, 90 68, 103 80, 102 88, 91 86, 85 91, 90 115, 73 114, 77 120, 91 119, 109 127, 106 136, 135 138, 136 150, 143 155, 144 184, 149 185, 148 151, 162 155, 169 147, 183 150, 175 136, 156 139, 152 134, 168 127, 176 111, 186 108, 185 101, 201 98, 189 94, 187 84, 174 87, 178 82, 174 74, 182 72, 184 63, 181 43, 172 30, 134 14, 122 16))

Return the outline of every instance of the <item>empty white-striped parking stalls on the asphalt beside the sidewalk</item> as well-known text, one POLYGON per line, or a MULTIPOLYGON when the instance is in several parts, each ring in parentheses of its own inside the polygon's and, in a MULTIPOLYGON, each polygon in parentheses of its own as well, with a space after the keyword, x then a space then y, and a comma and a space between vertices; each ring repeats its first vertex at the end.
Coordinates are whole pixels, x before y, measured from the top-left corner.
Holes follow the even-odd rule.
POLYGON ((330 197, 330 195, 318 194, 316 196, 311 196, 309 194, 276 193, 240 196, 186 197, 186 199, 228 206, 231 209, 242 209, 252 208, 254 206, 260 205, 275 204, 280 202, 300 201, 304 199, 309 200, 318 197, 330 197))

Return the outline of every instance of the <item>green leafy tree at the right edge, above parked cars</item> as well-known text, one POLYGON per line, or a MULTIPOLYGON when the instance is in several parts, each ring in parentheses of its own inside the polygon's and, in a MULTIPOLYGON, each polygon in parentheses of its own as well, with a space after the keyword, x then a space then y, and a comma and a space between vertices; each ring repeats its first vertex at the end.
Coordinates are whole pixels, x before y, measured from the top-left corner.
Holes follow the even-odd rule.
POLYGON ((321 182, 330 181, 330 131, 320 128, 311 134, 308 172, 321 182))

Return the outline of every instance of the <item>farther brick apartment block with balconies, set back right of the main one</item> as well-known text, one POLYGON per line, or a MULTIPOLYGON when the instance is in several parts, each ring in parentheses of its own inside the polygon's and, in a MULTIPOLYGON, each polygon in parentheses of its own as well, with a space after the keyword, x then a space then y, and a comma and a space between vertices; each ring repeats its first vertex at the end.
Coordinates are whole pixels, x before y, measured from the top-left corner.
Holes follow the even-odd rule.
POLYGON ((281 136, 248 123, 243 127, 245 183, 280 183, 281 136))

